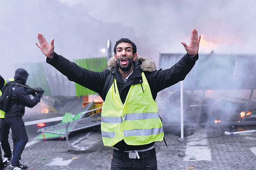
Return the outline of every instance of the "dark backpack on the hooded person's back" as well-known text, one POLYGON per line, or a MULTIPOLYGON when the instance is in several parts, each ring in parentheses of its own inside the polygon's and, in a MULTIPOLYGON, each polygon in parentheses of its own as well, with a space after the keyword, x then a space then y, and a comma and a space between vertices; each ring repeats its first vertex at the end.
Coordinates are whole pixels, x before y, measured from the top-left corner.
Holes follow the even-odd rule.
POLYGON ((0 96, 0 110, 8 112, 11 107, 11 88, 14 83, 11 81, 2 88, 2 96, 0 96))

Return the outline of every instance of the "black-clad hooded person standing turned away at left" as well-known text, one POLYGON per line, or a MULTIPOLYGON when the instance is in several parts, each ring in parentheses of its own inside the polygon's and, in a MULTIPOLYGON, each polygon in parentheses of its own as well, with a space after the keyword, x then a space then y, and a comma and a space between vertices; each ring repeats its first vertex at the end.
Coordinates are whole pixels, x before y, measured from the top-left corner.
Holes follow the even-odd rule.
POLYGON ((25 106, 33 108, 40 102, 42 93, 44 93, 44 90, 40 87, 36 87, 37 90, 35 91, 22 86, 26 85, 28 75, 26 70, 19 68, 15 71, 14 81, 11 82, 14 84, 11 88, 11 106, 10 109, 5 112, 5 121, 10 125, 11 130, 16 136, 16 140, 14 141, 13 160, 11 161, 11 165, 8 166, 9 169, 27 168, 27 166, 20 163, 21 154, 28 142, 22 116, 25 114, 25 106), (29 96, 31 94, 34 96, 33 99, 29 96))

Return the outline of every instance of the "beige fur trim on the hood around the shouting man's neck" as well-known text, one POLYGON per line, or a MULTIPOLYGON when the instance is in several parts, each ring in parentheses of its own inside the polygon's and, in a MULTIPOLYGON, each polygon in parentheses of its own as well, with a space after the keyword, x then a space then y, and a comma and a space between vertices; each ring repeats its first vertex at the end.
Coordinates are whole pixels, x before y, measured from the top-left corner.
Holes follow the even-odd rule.
MULTIPOLYGON (((149 57, 143 57, 138 55, 135 61, 137 61, 141 65, 142 71, 148 71, 148 72, 156 71, 156 64, 149 57)), ((108 60, 107 66, 109 68, 113 68, 113 67, 118 68, 117 61, 115 61, 114 56, 112 56, 112 58, 108 60)))

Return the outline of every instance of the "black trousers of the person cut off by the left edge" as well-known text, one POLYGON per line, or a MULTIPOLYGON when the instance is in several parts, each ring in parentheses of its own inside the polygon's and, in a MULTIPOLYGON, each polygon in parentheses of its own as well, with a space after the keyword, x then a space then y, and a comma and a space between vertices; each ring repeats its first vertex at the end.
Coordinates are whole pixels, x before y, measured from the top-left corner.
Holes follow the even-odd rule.
MULTIPOLYGON (((8 141, 9 137, 9 131, 10 131, 10 125, 5 121, 5 118, 0 118, 0 142, 2 143, 2 149, 4 151, 4 157, 5 158, 11 158, 11 148, 8 141)), ((16 136, 14 133, 11 133, 11 136, 13 138, 13 142, 16 141, 16 136)))

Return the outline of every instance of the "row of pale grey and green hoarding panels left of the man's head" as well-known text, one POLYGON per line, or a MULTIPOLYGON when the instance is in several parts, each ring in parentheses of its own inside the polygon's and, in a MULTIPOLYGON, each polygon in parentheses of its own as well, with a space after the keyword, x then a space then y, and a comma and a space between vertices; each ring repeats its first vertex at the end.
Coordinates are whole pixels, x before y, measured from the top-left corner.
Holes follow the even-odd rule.
MULTIPOLYGON (((88 70, 103 71, 107 65, 106 58, 77 59, 74 62, 88 70)), ((95 92, 68 80, 56 68, 46 62, 16 64, 15 68, 24 68, 28 73, 27 85, 41 87, 43 96, 86 96, 95 92)))

